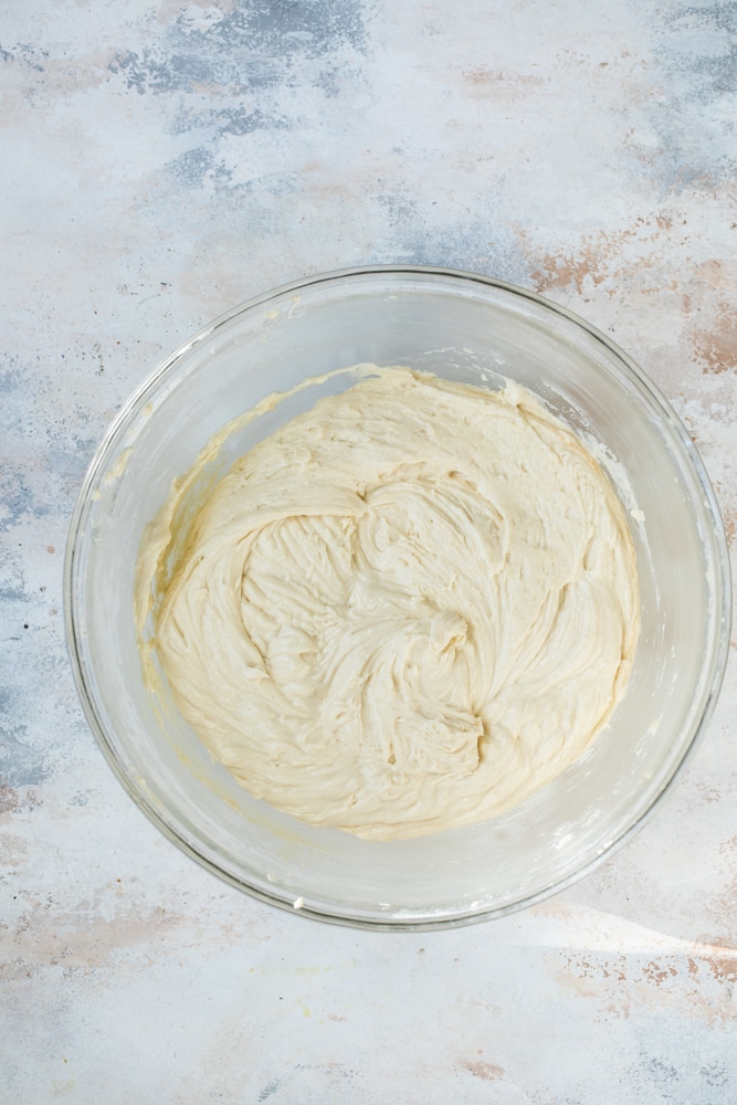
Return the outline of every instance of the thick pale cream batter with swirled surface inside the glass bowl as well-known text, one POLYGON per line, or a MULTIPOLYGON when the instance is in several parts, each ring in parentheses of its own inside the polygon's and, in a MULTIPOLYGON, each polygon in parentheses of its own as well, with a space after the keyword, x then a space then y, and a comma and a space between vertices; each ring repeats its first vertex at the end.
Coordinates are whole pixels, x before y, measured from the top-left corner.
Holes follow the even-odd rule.
POLYGON ((242 456, 186 539, 176 506, 141 548, 139 630, 150 606, 214 757, 310 824, 394 839, 492 818, 580 756, 624 692, 623 509, 513 383, 377 369, 242 456))

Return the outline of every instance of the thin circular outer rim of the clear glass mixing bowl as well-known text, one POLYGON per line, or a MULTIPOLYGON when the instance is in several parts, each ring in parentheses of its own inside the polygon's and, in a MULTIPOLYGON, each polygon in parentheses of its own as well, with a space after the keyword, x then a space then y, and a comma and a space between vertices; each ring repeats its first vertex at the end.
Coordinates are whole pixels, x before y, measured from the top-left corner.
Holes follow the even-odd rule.
POLYGON ((190 856, 211 874, 217 875, 219 878, 235 886, 238 890, 249 894, 251 897, 264 902, 269 905, 276 906, 277 908, 284 909, 288 913, 299 913, 304 917, 309 917, 315 920, 320 920, 326 924, 343 925, 351 928, 368 929, 368 930, 381 930, 381 932, 430 932, 434 929, 446 929, 446 928, 459 928, 466 925, 477 924, 483 920, 495 919, 498 917, 505 917, 510 914, 517 913, 520 909, 526 909, 529 906, 539 904, 540 902, 551 897, 552 895, 559 894, 561 891, 568 888, 569 886, 577 883, 580 878, 590 874, 596 867, 598 867, 604 860, 610 859, 620 848, 622 848, 628 841, 630 841, 635 833, 638 833, 650 820, 657 810, 663 806, 665 800, 672 796, 681 776, 685 771, 686 767, 691 762, 698 744, 701 743, 703 735, 710 722, 712 715, 716 707, 719 691, 724 681, 725 670, 727 666, 727 660, 729 654, 729 638, 731 629, 731 617, 733 617, 733 602, 731 602, 731 571, 729 562, 729 550, 727 544, 726 532, 724 527, 724 520, 722 517, 722 512, 716 497, 716 494, 712 487, 709 476, 706 472, 704 462, 694 445, 684 423, 675 412, 674 408, 671 406, 670 401, 661 392, 660 388, 650 379, 650 377, 639 367, 639 365, 627 354, 615 341, 613 341, 608 335, 598 327, 588 323, 580 315, 555 303, 545 296, 539 295, 536 292, 531 292, 517 284, 509 283, 508 281, 497 280, 493 276, 486 276, 481 273, 474 273, 461 269, 450 269, 444 266, 435 265, 411 265, 411 264, 371 264, 371 265, 357 265, 348 269, 337 269, 327 272, 318 272, 312 275, 303 276, 298 280, 289 281, 286 284, 281 284, 273 287, 266 292, 260 293, 252 296, 242 303, 231 307, 225 311, 212 322, 206 324, 196 334, 193 334, 188 340, 181 343, 170 355, 165 357, 162 360, 156 365, 150 372, 143 379, 143 381, 130 392, 128 398, 124 401, 120 409, 118 410, 115 418, 108 424, 95 453, 87 466, 87 471, 82 482, 74 509, 70 519, 70 528, 66 538, 65 555, 64 555, 64 576, 63 576, 63 598, 64 598, 64 625, 65 625, 65 636, 66 636, 66 648, 71 661, 72 673, 74 677, 74 683, 76 686, 77 695, 86 716, 87 723, 95 736, 98 747, 103 751, 109 767, 113 772, 117 776, 120 785, 128 793, 128 796, 134 800, 136 806, 141 810, 141 812, 148 818, 148 820, 172 843, 175 843, 185 854, 190 856), (197 846, 192 844, 189 840, 185 839, 177 829, 167 820, 162 810, 155 804, 141 789, 136 787, 134 780, 130 778, 126 767, 119 757, 114 741, 108 736, 105 725, 103 724, 102 717, 98 713, 97 705, 94 701, 92 688, 88 686, 85 677, 85 661, 84 652, 82 649, 82 627, 80 624, 80 602, 78 602, 78 591, 80 591, 80 580, 76 572, 76 565, 80 557, 80 545, 82 539, 82 527, 81 522, 83 513, 88 505, 91 490, 95 482, 95 478, 99 471, 104 467, 107 456, 110 450, 114 448, 120 431, 127 425, 130 417, 140 408, 144 403, 146 397, 156 387, 160 379, 162 379, 167 372, 169 372, 183 356, 186 356, 191 349, 193 349, 200 343, 207 340, 217 330, 221 329, 223 326, 228 325, 232 319, 240 315, 246 314, 253 311, 255 307, 263 306, 270 301, 275 298, 281 298, 284 295, 298 292, 307 287, 315 287, 319 284, 329 284, 339 281, 345 281, 352 277, 360 276, 386 276, 389 274, 406 275, 406 276, 422 276, 422 277, 444 277, 451 281, 456 281, 459 283, 465 282, 474 285, 481 285, 488 288, 494 288, 502 291, 504 293, 510 294, 513 297, 518 299, 529 301, 537 307, 544 311, 558 315, 566 319, 567 323, 572 323, 576 327, 580 328, 593 338, 594 341, 604 346, 604 348, 612 354, 627 369, 631 376, 634 377, 639 387, 647 394, 650 401, 652 401, 663 418, 668 422, 670 430, 676 438, 686 460, 691 464, 692 473, 696 476, 697 483, 704 495, 704 507, 705 513, 710 518, 712 529, 712 546, 714 562, 717 571, 717 579, 714 580, 712 598, 714 602, 714 625, 720 627, 718 640, 713 642, 714 656, 713 656, 713 671, 712 678, 709 683, 704 687, 703 692, 703 707, 698 715, 698 719, 694 725, 694 732, 691 740, 683 749, 683 753, 672 769, 670 776, 664 780, 661 789, 655 794, 647 809, 644 810, 632 823, 630 823, 624 830, 622 830, 618 836, 613 840, 608 841, 602 845, 600 852, 585 863, 581 867, 578 867, 571 874, 559 878, 551 883, 550 885, 533 893, 528 894, 524 898, 517 899, 515 902, 505 903, 498 906, 492 906, 488 908, 483 908, 480 911, 470 911, 467 913, 459 913, 453 916, 440 916, 440 917, 428 917, 425 919, 411 919, 411 918, 400 918, 387 917, 383 919, 380 915, 375 917, 366 916, 351 916, 350 914, 339 914, 330 913, 320 908, 313 908, 308 902, 304 904, 293 903, 287 901, 285 897, 278 896, 277 894, 270 894, 262 887, 249 883, 246 880, 234 875, 232 872, 223 870, 215 861, 210 859, 208 855, 202 854, 198 851, 197 846))

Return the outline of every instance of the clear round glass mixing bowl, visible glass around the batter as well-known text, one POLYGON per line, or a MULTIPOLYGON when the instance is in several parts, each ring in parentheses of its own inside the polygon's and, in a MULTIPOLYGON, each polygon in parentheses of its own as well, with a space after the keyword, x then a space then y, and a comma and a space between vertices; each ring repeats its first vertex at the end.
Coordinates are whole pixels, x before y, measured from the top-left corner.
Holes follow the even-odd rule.
MULTIPOLYGON (((312 406, 334 378, 228 440, 213 474, 312 406)), ((529 292, 470 273, 386 266, 291 284, 236 307, 164 361, 99 446, 72 519, 66 629, 80 696, 118 778, 210 871, 325 920, 432 928, 550 895, 622 844, 673 787, 714 707, 730 628, 727 546, 687 433, 604 335, 529 292), (578 762, 496 820, 367 842, 277 813, 146 690, 133 593, 138 546, 208 439, 274 391, 362 361, 471 383, 507 376, 597 451, 633 514, 642 630, 627 695, 578 762)))

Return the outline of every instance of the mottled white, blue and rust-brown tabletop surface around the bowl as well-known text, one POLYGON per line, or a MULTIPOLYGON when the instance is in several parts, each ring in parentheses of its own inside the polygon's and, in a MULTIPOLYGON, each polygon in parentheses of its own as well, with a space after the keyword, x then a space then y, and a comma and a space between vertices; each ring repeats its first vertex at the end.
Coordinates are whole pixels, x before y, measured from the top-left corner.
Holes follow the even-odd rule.
POLYGON ((107 422, 241 299, 463 266, 613 335, 737 527, 737 4, 0 8, 0 1101, 737 1101, 737 664, 670 803, 548 904, 423 936, 259 905, 135 809, 70 674, 107 422))

